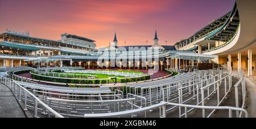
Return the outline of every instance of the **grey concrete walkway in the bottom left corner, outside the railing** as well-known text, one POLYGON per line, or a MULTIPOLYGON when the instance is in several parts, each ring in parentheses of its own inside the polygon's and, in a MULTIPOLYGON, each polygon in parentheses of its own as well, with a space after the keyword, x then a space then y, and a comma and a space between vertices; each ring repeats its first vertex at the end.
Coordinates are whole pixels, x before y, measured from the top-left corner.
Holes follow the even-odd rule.
POLYGON ((0 83, 0 118, 26 118, 10 89, 0 83))

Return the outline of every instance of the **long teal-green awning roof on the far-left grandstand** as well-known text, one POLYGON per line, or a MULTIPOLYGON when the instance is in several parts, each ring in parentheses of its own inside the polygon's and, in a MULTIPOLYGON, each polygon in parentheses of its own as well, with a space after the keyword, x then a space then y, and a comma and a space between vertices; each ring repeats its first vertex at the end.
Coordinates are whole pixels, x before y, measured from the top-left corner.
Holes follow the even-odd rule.
POLYGON ((9 48, 14 48, 14 49, 32 50, 32 51, 40 50, 40 49, 36 48, 35 46, 13 44, 13 43, 6 42, 6 41, 0 42, 0 46, 5 46, 5 47, 9 47, 9 48))

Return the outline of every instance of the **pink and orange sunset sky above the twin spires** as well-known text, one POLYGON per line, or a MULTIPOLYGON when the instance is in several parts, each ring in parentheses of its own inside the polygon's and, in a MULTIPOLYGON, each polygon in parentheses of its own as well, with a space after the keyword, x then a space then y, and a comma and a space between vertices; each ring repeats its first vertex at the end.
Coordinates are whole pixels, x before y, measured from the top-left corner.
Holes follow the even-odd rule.
POLYGON ((156 29, 161 45, 173 45, 232 10, 234 2, 1 0, 0 32, 12 29, 51 40, 60 40, 61 33, 71 33, 96 40, 100 48, 113 41, 114 32, 119 46, 152 45, 156 29))

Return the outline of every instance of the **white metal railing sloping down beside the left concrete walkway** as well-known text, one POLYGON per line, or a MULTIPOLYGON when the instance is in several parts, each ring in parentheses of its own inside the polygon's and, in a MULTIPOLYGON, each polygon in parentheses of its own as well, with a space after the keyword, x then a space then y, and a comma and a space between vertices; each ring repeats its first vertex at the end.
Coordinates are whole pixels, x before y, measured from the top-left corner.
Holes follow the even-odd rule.
POLYGON ((38 118, 38 110, 39 110, 39 105, 42 105, 44 108, 46 108, 49 111, 49 117, 51 117, 51 114, 54 115, 57 118, 63 118, 62 115, 57 113, 55 110, 49 108, 44 102, 42 102, 38 97, 36 97, 33 93, 28 91, 26 88, 22 87, 20 84, 16 83, 15 80, 5 78, 3 76, 0 77, 1 83, 5 84, 7 87, 11 89, 11 91, 14 93, 15 97, 18 99, 18 101, 22 101, 22 97, 24 97, 24 110, 27 109, 27 98, 33 98, 34 99, 34 117, 38 118))

